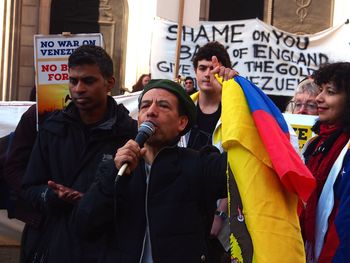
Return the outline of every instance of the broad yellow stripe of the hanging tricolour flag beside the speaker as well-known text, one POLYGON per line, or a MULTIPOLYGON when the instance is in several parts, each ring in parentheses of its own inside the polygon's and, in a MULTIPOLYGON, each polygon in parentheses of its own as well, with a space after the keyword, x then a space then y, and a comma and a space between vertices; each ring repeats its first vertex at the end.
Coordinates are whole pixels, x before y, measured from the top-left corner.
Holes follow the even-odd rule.
POLYGON ((244 93, 233 79, 223 84, 221 120, 222 144, 253 242, 253 262, 305 262, 298 197, 283 187, 273 170, 244 93))

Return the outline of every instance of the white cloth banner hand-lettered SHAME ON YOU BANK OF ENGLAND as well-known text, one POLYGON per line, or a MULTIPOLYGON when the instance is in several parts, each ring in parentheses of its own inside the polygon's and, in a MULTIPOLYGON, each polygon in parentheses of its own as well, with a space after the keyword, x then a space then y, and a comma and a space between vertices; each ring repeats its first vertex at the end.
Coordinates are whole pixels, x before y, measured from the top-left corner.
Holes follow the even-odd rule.
MULTIPOLYGON (((152 78, 173 79, 177 24, 156 19, 151 51, 152 78)), ((195 76, 192 59, 200 46, 219 41, 233 67, 264 93, 292 96, 297 84, 322 63, 350 61, 350 25, 342 24, 313 35, 294 35, 258 19, 202 22, 183 27, 181 76, 195 76)))

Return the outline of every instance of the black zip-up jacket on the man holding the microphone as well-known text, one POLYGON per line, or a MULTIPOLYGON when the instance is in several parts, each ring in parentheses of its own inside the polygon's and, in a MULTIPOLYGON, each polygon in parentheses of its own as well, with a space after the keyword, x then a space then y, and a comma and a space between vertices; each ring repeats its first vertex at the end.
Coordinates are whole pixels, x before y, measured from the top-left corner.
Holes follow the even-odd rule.
POLYGON ((215 201, 226 196, 226 156, 214 147, 200 153, 163 149, 152 164, 148 187, 144 167, 140 161, 131 176, 120 177, 115 193, 114 163, 100 167, 73 213, 79 236, 107 234, 99 262, 139 262, 148 221, 155 263, 205 262, 203 215, 214 213, 215 201))

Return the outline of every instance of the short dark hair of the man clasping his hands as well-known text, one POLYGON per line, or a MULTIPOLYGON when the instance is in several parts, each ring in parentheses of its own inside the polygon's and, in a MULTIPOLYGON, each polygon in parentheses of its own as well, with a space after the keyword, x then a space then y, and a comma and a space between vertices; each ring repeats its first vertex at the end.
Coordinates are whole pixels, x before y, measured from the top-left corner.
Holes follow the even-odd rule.
POLYGON ((104 79, 110 79, 113 76, 113 61, 102 47, 82 45, 68 58, 68 68, 86 64, 97 65, 104 79))

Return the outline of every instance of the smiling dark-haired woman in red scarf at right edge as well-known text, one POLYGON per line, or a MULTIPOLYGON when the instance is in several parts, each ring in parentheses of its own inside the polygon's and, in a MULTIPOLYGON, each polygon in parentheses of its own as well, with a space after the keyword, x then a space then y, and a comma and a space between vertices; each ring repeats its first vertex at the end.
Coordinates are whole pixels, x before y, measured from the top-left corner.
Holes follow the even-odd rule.
POLYGON ((300 222, 307 262, 350 260, 350 63, 321 66, 313 74, 317 134, 304 147, 317 186, 300 222))

